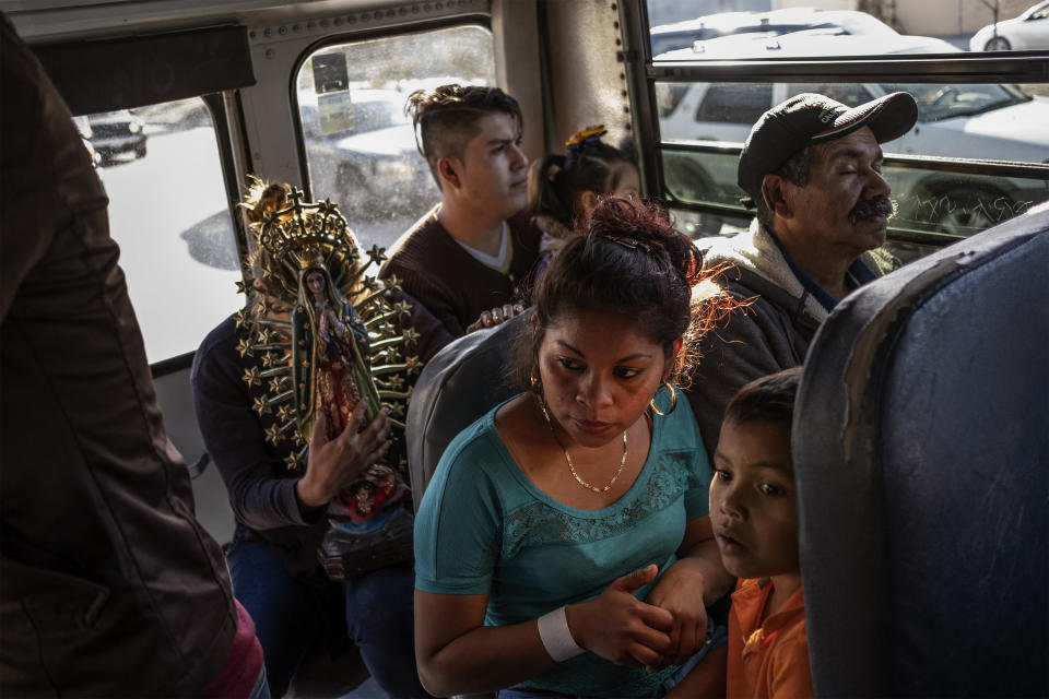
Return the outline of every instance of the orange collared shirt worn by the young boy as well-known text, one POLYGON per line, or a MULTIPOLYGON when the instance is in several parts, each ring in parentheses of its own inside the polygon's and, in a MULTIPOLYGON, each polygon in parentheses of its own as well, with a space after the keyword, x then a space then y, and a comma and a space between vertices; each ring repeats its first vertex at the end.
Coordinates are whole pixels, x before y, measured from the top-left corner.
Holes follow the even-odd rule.
POLYGON ((740 580, 729 613, 729 699, 812 697, 801 590, 762 624, 771 581, 740 580))

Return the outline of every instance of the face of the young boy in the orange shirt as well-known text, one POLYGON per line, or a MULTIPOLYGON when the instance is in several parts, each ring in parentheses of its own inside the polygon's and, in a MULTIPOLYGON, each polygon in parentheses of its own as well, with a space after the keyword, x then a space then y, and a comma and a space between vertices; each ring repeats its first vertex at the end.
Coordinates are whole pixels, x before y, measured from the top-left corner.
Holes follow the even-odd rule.
POLYGON ((800 570, 790 426, 726 420, 714 454, 710 522, 736 578, 800 570))

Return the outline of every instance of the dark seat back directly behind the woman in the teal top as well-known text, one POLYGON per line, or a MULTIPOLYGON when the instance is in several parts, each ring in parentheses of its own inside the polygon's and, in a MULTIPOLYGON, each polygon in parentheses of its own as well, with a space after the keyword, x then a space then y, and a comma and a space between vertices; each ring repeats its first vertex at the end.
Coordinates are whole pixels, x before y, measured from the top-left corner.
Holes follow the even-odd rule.
POLYGON ((448 344, 426 363, 408 407, 405 441, 415 508, 448 443, 474 420, 520 392, 506 356, 531 311, 448 344))

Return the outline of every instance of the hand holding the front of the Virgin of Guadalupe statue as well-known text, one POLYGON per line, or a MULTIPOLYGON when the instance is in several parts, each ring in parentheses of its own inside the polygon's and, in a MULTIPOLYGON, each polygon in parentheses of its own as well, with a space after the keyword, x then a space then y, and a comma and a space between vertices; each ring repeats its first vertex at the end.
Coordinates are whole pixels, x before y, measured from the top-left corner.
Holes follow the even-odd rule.
POLYGON ((342 488, 356 481, 389 449, 390 440, 387 436, 390 431, 390 417, 385 407, 370 425, 358 431, 367 407, 368 399, 361 399, 350 415, 346 428, 331 441, 326 438, 328 417, 322 411, 317 411, 309 439, 306 475, 295 484, 295 493, 306 507, 328 505, 342 488))

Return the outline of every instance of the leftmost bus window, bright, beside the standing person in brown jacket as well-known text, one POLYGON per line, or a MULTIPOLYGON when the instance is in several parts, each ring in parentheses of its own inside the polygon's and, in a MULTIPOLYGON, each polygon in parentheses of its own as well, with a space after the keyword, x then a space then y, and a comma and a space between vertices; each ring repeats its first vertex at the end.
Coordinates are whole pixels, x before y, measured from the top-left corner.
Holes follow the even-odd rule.
POLYGON ((211 112, 193 97, 87 121, 146 357, 192 352, 241 279, 211 112))

